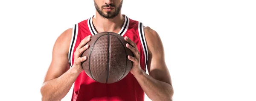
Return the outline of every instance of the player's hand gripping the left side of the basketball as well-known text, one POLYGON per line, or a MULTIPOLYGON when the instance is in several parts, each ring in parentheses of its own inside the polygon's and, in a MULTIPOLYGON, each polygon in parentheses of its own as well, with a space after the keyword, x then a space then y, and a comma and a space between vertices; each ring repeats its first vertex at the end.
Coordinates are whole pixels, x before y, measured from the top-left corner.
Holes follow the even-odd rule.
POLYGON ((84 62, 87 60, 87 56, 81 57, 82 53, 86 51, 89 48, 89 45, 86 45, 90 41, 90 37, 86 36, 79 44, 79 46, 76 48, 76 51, 74 53, 74 65, 72 67, 76 68, 78 73, 81 73, 83 71, 83 67, 81 65, 81 62, 84 62))

